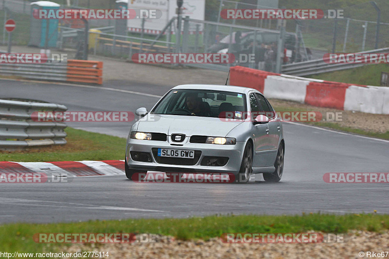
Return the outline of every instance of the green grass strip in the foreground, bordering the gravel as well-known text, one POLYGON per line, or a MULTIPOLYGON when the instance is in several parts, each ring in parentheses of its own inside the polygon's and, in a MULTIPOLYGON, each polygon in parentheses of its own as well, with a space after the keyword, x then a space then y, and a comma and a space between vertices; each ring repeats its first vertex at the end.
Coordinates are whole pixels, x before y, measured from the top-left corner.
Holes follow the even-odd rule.
POLYGON ((63 244, 41 244, 35 233, 153 233, 180 240, 220 237, 223 233, 299 233, 309 230, 346 233, 348 230, 374 232, 389 229, 389 215, 310 213, 294 216, 228 215, 189 219, 126 219, 55 224, 4 224, 0 226, 1 251, 47 252, 63 244))

